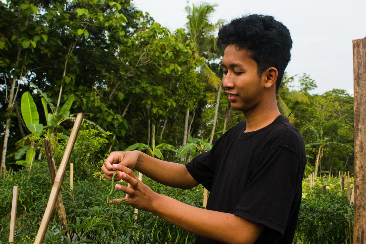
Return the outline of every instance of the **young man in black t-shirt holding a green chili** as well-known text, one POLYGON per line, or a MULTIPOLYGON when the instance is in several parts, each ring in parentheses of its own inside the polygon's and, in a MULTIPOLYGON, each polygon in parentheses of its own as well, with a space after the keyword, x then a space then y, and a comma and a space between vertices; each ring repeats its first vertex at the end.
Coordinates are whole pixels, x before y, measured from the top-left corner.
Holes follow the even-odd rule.
POLYGON ((290 32, 272 16, 243 16, 221 27, 219 44, 225 47, 223 86, 246 121, 186 165, 139 151, 113 152, 102 166, 104 177, 118 170, 117 180, 131 185, 116 184, 126 191, 125 204, 197 234, 196 243, 291 244, 306 156, 302 136, 276 102, 290 61, 290 32), (206 209, 153 192, 131 169, 171 187, 202 184, 210 191, 206 209))

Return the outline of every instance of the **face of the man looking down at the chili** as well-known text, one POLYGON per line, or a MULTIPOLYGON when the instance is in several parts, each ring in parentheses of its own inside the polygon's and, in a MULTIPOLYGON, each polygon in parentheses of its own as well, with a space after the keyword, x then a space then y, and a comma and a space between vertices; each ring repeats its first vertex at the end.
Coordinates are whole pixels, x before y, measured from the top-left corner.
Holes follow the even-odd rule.
POLYGON ((232 108, 245 112, 257 106, 264 95, 264 81, 258 76, 257 62, 251 59, 247 50, 227 46, 221 66, 223 86, 232 108))

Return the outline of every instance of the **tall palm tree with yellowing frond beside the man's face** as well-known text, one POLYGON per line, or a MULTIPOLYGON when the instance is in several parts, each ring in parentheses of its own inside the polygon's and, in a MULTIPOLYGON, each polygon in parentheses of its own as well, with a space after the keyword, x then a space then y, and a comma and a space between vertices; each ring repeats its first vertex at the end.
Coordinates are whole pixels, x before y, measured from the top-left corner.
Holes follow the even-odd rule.
MULTIPOLYGON (((220 94, 222 91, 222 80, 209 68, 207 61, 220 58, 216 48, 217 38, 214 36, 214 33, 225 22, 223 19, 219 19, 215 24, 210 22, 210 17, 214 12, 215 7, 217 7, 217 4, 211 5, 209 3, 202 2, 198 5, 193 4, 192 7, 187 5, 185 8, 188 14, 188 22, 185 25, 188 31, 188 37, 195 44, 198 56, 202 57, 203 60, 200 67, 201 74, 205 76, 206 82, 209 85, 216 87, 218 90, 211 135, 213 135, 215 131, 220 94)), ((186 111, 186 124, 188 124, 187 116, 189 116, 189 109, 186 111)), ((185 125, 184 128, 186 129, 187 126, 185 125)), ((184 133, 184 135, 188 134, 184 133)), ((212 144, 212 140, 213 136, 210 138, 210 144, 212 144)), ((187 138, 184 138, 183 141, 187 142, 187 138)))

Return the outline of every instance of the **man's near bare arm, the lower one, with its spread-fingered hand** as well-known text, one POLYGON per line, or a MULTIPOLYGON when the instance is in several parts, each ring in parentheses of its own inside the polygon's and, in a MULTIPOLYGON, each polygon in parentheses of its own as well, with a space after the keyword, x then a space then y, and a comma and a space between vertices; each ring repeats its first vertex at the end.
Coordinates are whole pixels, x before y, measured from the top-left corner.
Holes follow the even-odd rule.
MULTIPOLYGON (((234 214, 193 207, 168 196, 154 192, 137 179, 132 170, 113 165, 121 179, 130 187, 116 184, 116 189, 126 192, 127 202, 137 209, 150 211, 173 225, 198 236, 223 243, 254 243, 264 229, 258 224, 234 214)), ((115 199, 119 203, 124 199, 115 199)))

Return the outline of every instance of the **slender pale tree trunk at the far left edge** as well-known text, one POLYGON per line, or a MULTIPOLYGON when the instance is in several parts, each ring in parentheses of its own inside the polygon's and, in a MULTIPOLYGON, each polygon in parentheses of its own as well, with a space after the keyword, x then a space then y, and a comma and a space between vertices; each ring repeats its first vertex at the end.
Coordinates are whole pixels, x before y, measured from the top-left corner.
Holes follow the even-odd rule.
MULTIPOLYGON (((20 49, 18 49, 18 55, 17 55, 16 60, 19 60, 19 58, 20 58, 20 49)), ((18 67, 18 64, 19 64, 19 61, 16 61, 15 62, 15 67, 18 67)), ((22 67, 22 70, 20 71, 19 79, 22 78, 22 71, 23 71, 23 67, 22 67)), ((14 74, 12 82, 11 82, 10 96, 9 96, 9 99, 6 98, 6 99, 8 99, 8 111, 6 113, 7 118, 6 118, 6 128, 5 128, 5 135, 4 135, 3 151, 1 153, 0 173, 5 172, 6 151, 7 151, 7 147, 8 147, 8 139, 9 139, 9 135, 10 135, 10 126, 11 126, 11 117, 10 117, 10 115, 11 115, 11 112, 14 108, 14 101, 15 101, 15 95, 14 94, 16 94, 15 83, 16 83, 16 76, 14 74)), ((18 87, 16 87, 16 90, 18 90, 18 87)))

